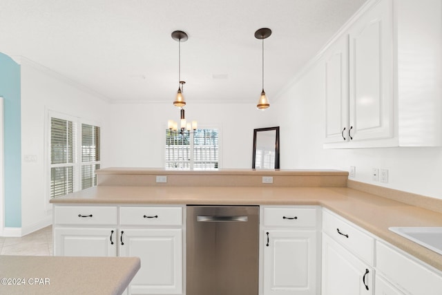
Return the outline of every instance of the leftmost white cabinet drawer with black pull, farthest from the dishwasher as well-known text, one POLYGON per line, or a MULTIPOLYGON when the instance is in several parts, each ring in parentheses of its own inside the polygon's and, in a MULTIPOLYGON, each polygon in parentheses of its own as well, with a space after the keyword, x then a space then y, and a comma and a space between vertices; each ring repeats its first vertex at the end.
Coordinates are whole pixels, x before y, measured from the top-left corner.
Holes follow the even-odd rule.
POLYGON ((55 225, 117 225, 117 207, 56 206, 55 225))

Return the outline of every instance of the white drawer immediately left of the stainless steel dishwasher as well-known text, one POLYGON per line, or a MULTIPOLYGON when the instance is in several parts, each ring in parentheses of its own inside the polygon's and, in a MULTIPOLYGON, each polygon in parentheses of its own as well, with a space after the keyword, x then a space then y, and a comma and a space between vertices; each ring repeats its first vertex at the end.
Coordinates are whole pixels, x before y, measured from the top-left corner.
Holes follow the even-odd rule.
POLYGON ((121 207, 120 225, 182 225, 182 207, 121 207))

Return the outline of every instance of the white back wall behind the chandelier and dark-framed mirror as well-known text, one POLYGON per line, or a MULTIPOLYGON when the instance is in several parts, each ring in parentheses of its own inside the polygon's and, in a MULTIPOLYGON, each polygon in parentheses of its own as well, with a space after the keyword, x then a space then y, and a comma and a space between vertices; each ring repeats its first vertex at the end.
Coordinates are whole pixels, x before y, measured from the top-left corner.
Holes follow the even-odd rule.
MULTIPOLYGON (((112 104, 108 166, 164 167, 167 120, 178 121, 172 104, 112 104)), ((258 101, 258 98, 257 98, 258 101)), ((186 119, 200 128, 220 129, 220 168, 251 168, 253 129, 275 126, 276 111, 258 111, 252 104, 193 104, 186 119)))

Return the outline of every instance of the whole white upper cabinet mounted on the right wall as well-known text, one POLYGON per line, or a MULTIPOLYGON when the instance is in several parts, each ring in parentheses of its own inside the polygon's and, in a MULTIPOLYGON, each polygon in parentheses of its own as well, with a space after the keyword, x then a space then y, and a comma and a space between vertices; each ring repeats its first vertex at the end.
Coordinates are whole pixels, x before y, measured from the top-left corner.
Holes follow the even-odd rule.
POLYGON ((442 145, 441 6, 370 1, 327 48, 325 148, 442 145))

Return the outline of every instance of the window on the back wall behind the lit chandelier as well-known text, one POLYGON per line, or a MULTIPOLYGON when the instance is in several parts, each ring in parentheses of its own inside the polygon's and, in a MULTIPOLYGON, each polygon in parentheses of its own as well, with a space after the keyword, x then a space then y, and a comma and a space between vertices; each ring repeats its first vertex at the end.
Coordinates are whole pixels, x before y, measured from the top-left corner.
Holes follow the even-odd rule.
POLYGON ((197 129, 193 134, 166 129, 166 169, 218 169, 218 140, 218 129, 197 129))

